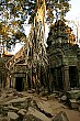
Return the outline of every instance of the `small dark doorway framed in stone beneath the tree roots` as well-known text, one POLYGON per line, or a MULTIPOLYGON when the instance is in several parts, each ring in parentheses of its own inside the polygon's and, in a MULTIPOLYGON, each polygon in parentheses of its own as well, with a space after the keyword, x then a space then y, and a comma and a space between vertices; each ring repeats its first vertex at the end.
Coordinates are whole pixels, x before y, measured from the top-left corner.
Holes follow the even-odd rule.
POLYGON ((23 77, 15 77, 15 89, 16 91, 22 91, 24 88, 23 77))

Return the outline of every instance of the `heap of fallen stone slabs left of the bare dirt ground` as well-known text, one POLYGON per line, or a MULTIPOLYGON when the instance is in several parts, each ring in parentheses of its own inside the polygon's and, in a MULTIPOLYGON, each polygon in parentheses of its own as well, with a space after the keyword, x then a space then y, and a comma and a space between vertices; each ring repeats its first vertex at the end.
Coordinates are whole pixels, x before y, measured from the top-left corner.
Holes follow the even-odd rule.
POLYGON ((3 90, 0 98, 1 120, 7 117, 7 121, 25 121, 25 119, 28 121, 50 121, 52 119, 47 117, 48 114, 53 117, 49 103, 43 100, 41 103, 36 96, 34 97, 30 91, 28 94, 3 90), (31 95, 28 96, 28 94, 31 95))

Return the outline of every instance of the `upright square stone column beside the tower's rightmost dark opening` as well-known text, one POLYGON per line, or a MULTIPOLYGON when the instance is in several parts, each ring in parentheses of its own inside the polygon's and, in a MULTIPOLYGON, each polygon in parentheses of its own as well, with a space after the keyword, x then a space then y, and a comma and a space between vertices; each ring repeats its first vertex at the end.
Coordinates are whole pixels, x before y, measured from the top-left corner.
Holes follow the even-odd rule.
POLYGON ((64 67, 64 90, 68 91, 70 90, 70 81, 69 81, 69 67, 64 67))

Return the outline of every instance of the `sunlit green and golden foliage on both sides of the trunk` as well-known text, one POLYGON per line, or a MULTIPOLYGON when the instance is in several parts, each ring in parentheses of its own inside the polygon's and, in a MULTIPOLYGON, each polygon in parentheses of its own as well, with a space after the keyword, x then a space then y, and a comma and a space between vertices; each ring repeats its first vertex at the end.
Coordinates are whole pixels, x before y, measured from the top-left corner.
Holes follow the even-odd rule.
MULTIPOLYGON (((28 23, 33 23, 37 6, 44 0, 0 0, 0 35, 7 48, 16 42, 25 41, 24 22, 30 16, 28 23)), ((53 23, 54 19, 65 19, 69 11, 70 0, 45 0, 46 21, 53 23)))

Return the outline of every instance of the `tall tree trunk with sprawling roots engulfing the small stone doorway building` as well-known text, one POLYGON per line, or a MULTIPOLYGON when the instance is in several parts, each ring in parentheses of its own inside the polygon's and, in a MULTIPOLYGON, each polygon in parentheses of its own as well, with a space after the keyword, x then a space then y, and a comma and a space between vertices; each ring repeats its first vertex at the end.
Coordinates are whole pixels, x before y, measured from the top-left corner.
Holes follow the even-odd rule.
POLYGON ((47 55, 44 44, 45 2, 37 0, 37 12, 25 45, 5 64, 8 74, 7 86, 18 91, 26 88, 47 88, 47 55))

